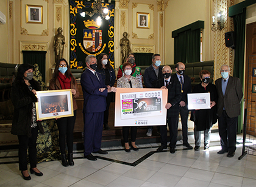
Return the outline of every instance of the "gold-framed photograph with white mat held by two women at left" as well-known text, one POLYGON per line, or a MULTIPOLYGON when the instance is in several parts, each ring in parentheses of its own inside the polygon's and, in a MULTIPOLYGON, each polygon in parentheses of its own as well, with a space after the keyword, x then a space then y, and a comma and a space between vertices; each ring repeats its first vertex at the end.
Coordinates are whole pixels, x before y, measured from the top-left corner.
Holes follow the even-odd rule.
POLYGON ((62 118, 74 115, 71 90, 49 90, 37 92, 37 120, 62 118))

